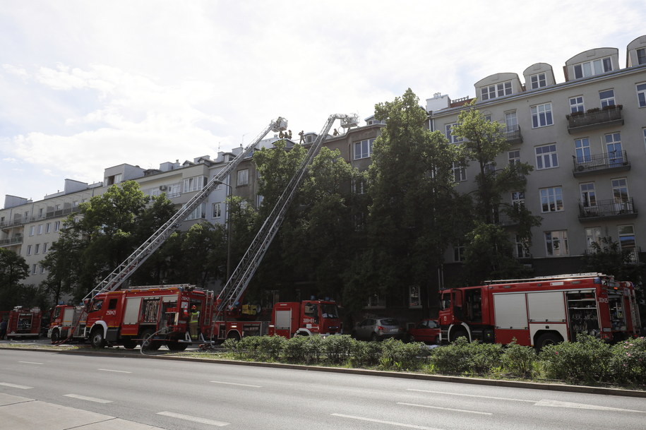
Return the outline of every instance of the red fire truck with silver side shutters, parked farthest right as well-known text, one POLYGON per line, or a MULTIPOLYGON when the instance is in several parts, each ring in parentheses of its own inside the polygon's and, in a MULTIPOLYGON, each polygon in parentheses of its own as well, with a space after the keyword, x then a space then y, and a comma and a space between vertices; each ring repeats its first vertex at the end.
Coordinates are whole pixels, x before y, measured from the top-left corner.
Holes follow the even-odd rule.
POLYGON ((638 335, 640 317, 631 282, 600 273, 496 280, 443 290, 442 338, 542 348, 578 333, 617 341, 638 335))

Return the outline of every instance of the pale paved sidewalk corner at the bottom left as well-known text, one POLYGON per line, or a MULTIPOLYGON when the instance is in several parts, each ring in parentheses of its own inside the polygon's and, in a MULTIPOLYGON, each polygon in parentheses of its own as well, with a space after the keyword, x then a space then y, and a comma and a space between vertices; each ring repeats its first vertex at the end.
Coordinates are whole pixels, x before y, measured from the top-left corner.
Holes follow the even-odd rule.
POLYGON ((0 393, 0 417, 2 428, 11 430, 164 430, 76 407, 4 393, 0 393))

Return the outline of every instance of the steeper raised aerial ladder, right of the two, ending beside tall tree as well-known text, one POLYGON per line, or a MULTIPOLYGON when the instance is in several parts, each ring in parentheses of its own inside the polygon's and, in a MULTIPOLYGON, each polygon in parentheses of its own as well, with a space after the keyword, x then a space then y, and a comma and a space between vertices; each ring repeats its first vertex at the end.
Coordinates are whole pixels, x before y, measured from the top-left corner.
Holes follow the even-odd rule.
POLYGON ((251 242, 249 249, 246 250, 246 253, 242 257, 237 268, 234 270, 231 277, 229 277, 225 287, 222 288, 222 292, 218 295, 216 299, 216 320, 223 310, 233 309, 241 299, 246 287, 251 281, 251 277, 256 273, 256 269, 263 260, 265 252, 267 252, 267 249, 278 232, 278 229, 280 229, 280 225, 282 224, 282 220, 285 218, 285 213, 287 213, 289 204, 294 200, 294 196, 296 196, 298 188, 303 182, 307 167, 309 167, 311 162, 314 160, 314 157, 316 157, 316 154, 318 154, 318 150, 321 149, 323 141, 328 137, 328 132, 332 128, 334 121, 337 119, 341 120, 341 126, 343 128, 357 126, 359 121, 357 115, 333 114, 328 117, 328 121, 325 122, 325 126, 323 126, 321 133, 318 134, 316 140, 312 143, 306 157, 301 162, 299 169, 297 169, 297 172, 289 181, 285 190, 282 191, 282 195, 278 199, 270 215, 267 217, 265 222, 263 222, 263 226, 251 242))

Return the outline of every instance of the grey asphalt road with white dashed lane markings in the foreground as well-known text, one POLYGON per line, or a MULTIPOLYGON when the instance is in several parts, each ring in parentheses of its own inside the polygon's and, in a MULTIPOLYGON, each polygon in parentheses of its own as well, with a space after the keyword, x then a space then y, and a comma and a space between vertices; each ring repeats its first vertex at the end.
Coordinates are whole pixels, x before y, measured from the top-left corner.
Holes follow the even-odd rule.
POLYGON ((0 350, 1 393, 169 430, 646 428, 644 398, 92 353, 0 350))

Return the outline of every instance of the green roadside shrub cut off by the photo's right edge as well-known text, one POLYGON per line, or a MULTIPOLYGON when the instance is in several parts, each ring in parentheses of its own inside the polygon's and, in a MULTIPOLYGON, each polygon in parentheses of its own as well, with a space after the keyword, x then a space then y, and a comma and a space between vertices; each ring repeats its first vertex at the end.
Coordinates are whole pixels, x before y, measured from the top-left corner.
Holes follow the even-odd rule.
POLYGON ((646 338, 619 342, 611 354, 610 371, 615 382, 646 384, 646 338))

